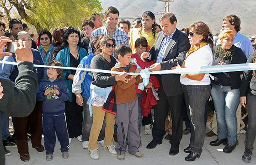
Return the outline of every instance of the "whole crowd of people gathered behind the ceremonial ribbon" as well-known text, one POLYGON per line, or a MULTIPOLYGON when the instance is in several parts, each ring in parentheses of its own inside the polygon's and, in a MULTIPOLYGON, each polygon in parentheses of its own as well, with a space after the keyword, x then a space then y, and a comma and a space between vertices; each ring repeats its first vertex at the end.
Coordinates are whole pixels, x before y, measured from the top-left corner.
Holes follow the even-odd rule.
MULTIPOLYGON (((116 154, 118 160, 125 159, 127 148, 129 154, 141 158, 144 154, 139 149, 140 134, 144 126, 144 134, 153 137, 146 148, 154 149, 165 138, 170 141, 172 156, 179 153, 182 135, 191 133, 184 152, 188 153, 186 161, 194 161, 201 156, 205 136, 217 134, 210 145, 224 144, 225 153, 235 149, 243 106, 248 110, 249 122, 245 122, 242 160, 250 162, 256 138, 254 70, 149 75, 149 71, 255 63, 256 51, 253 42, 240 33, 240 18, 225 16, 217 37, 202 21, 177 29, 176 16, 170 12, 160 17, 160 25, 151 11, 145 11, 132 24, 128 20, 118 21, 118 17, 117 8, 110 6, 104 12, 104 26, 101 15, 94 13, 90 20, 82 21, 82 31, 75 27, 56 27, 53 32, 42 30, 36 41, 21 20, 9 22, 10 32, 0 22, 0 36, 26 43, 32 50, 33 64, 53 66, 33 68, 38 88, 35 106, 28 116, 0 113, 5 156, 11 154, 6 147, 17 146, 20 159, 29 161, 29 137, 32 148, 46 151, 46 160, 53 160, 56 132, 64 159, 69 157, 74 138, 88 149, 94 160, 100 158, 98 144, 116 154), (208 121, 209 99, 215 109, 211 121, 208 121), (9 116, 15 130, 13 135, 9 132, 9 116), (182 120, 186 123, 184 130, 182 120), (207 122, 212 124, 210 132, 205 134, 207 122)), ((7 48, 3 45, 1 49, 3 52, 7 48)), ((0 60, 16 62, 16 54, 0 60)), ((1 79, 16 82, 19 78, 19 67, 0 64, 0 68, 1 79)), ((5 95, 0 94, 2 97, 5 95)))

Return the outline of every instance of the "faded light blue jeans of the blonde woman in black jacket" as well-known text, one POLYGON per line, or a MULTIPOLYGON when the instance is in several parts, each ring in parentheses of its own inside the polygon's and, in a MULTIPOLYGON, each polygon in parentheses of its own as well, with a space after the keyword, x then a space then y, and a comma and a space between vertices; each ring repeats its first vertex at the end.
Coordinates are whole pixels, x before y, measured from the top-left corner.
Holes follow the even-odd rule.
POLYGON ((229 144, 235 144, 237 138, 236 110, 240 102, 239 89, 213 84, 211 90, 217 116, 218 138, 228 138, 229 144))

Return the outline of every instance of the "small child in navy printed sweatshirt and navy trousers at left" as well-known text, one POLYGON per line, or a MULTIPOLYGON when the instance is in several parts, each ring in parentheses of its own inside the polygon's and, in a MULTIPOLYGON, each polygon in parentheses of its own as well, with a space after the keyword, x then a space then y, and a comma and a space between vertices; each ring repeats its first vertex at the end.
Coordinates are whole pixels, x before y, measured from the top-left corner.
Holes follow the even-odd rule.
MULTIPOLYGON (((50 66, 63 66, 58 61, 51 61, 50 66)), ((43 101, 43 134, 46 160, 53 160, 56 143, 55 131, 60 143, 62 158, 69 157, 69 136, 65 120, 65 101, 69 100, 69 91, 62 80, 63 69, 48 68, 48 79, 39 84, 37 100, 43 101)))

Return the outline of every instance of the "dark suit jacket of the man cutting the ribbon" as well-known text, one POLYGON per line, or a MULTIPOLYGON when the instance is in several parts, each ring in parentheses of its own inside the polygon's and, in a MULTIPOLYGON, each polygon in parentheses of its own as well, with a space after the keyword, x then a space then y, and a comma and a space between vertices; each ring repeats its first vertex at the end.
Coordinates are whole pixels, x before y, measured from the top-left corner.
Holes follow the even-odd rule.
MULTIPOLYGON (((154 46, 149 51, 151 58, 150 60, 157 59, 160 45, 164 39, 164 32, 159 32, 154 46)), ((187 35, 178 29, 173 34, 170 43, 167 45, 164 59, 160 63, 161 70, 168 70, 171 67, 176 66, 177 62, 182 65, 185 59, 186 53, 190 48, 189 40, 187 35)), ((161 86, 165 91, 166 96, 177 96, 183 93, 180 82, 180 74, 165 74, 160 76, 161 86)))

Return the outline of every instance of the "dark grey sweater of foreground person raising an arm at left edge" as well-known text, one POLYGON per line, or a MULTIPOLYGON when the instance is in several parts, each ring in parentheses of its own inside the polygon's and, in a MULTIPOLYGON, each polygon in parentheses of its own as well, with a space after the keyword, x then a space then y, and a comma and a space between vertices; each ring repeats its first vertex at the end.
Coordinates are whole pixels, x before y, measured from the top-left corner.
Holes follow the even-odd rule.
MULTIPOLYGON (((0 99, 0 114, 4 113, 11 117, 26 117, 33 111, 36 103, 37 75, 33 72, 33 64, 30 62, 21 62, 18 64, 18 70, 19 75, 15 84, 10 80, 0 79, 4 87, 4 96, 0 99)), ((1 133, 0 139, 2 139, 1 133)), ((3 143, 0 143, 0 165, 5 165, 3 143)))

